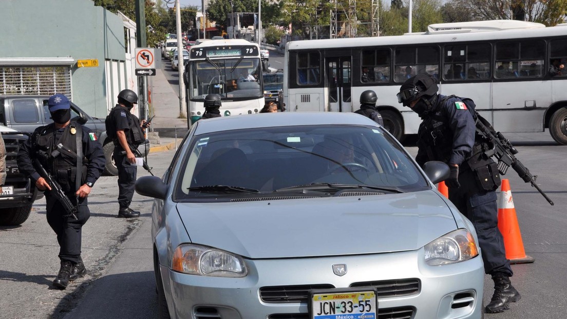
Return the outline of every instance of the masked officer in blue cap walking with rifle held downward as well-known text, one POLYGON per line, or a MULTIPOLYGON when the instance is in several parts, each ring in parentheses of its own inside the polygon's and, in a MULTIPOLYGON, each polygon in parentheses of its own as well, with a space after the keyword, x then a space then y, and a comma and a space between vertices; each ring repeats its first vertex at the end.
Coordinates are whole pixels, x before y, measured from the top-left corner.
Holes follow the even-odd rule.
POLYGON ((65 95, 49 97, 48 107, 53 123, 37 127, 18 151, 17 160, 20 172, 31 176, 38 189, 45 190, 47 222, 57 234, 60 246, 61 269, 53 286, 65 289, 69 281, 87 273, 81 259, 81 229, 90 217, 88 194, 103 172, 105 160, 95 133, 70 121, 71 106, 65 95), (33 165, 36 159, 77 206, 77 214, 67 214, 62 203, 50 192, 52 186, 33 165))

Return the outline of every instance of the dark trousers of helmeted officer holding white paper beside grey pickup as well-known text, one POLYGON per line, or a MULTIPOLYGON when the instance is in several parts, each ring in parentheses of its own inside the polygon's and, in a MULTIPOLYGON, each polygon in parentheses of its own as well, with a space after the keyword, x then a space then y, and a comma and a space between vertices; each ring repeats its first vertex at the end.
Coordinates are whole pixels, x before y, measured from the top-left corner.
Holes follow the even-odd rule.
POLYGON ((130 164, 126 155, 121 154, 123 151, 120 146, 114 148, 114 161, 118 169, 118 203, 120 209, 127 209, 130 207, 134 196, 138 167, 135 164, 130 164))

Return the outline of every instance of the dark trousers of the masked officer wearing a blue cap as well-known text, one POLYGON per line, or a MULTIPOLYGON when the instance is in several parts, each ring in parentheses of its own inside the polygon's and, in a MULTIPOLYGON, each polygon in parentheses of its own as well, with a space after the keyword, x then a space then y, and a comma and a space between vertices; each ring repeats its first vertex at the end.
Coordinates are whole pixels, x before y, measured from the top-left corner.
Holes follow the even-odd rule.
MULTIPOLYGON (((71 203, 77 203, 77 200, 70 194, 68 196, 71 203)), ((57 242, 59 243, 59 259, 62 261, 70 261, 78 263, 81 261, 81 230, 84 223, 91 216, 88 210, 87 199, 79 201, 77 220, 73 216, 64 216, 67 214, 61 202, 53 195, 45 192, 47 222, 51 229, 57 234, 57 242)))

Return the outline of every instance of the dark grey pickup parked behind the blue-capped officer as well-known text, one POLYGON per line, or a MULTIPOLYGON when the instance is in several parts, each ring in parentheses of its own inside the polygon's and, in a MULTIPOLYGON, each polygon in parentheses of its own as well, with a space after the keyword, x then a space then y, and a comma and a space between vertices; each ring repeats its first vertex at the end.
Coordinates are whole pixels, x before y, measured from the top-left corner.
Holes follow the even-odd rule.
MULTIPOLYGON (((49 95, 0 95, 0 124, 33 133, 36 127, 53 122, 47 105, 48 100, 49 95)), ((106 158, 105 174, 118 175, 113 158, 114 144, 108 138, 104 119, 89 116, 71 102, 71 121, 80 122, 96 133, 106 158)), ((138 151, 142 156, 146 156, 149 150, 150 141, 146 139, 146 142, 138 147, 138 151)))

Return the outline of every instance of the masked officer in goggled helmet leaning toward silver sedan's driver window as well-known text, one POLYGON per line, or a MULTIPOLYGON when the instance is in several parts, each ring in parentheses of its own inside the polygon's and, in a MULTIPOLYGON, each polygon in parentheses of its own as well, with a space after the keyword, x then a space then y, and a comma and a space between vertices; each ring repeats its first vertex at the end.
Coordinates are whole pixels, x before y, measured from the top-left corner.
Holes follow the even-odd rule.
POLYGON ((484 271, 492 275, 494 294, 486 305, 487 313, 508 309, 520 299, 512 286, 513 273, 502 235, 498 230, 498 206, 495 190, 500 173, 492 159, 483 159, 481 144, 475 141, 473 103, 465 104, 456 96, 438 95, 435 79, 426 74, 412 76, 400 87, 399 103, 411 108, 422 119, 418 129, 416 161, 438 160, 451 169, 445 181, 449 199, 475 226, 484 261, 484 271))

